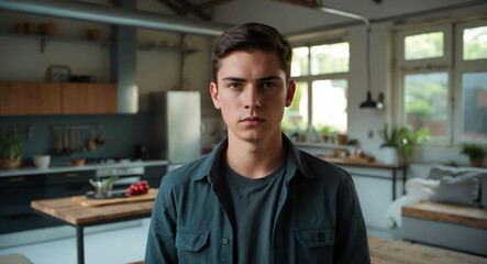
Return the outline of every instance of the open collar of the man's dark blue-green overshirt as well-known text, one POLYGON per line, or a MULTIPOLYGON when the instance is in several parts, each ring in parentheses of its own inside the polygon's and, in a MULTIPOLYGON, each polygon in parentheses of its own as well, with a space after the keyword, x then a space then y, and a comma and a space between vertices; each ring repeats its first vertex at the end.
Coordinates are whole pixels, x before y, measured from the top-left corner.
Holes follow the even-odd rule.
MULTIPOLYGON (((313 177, 312 174, 309 173, 302 152, 299 151, 296 147, 296 145, 292 144, 292 142, 284 133, 283 133, 283 141, 288 147, 288 169, 290 167, 296 167, 301 175, 306 177, 313 177)), ((226 136, 203 160, 203 163, 201 164, 201 169, 199 170, 201 173, 199 175, 196 175, 195 180, 200 180, 203 179, 204 177, 208 177, 208 180, 213 184, 213 182, 220 175, 221 155, 223 154, 224 150, 226 150, 228 145, 229 145, 229 139, 226 136)), ((295 174, 286 174, 286 182, 289 182, 294 177, 294 175, 295 174)))

